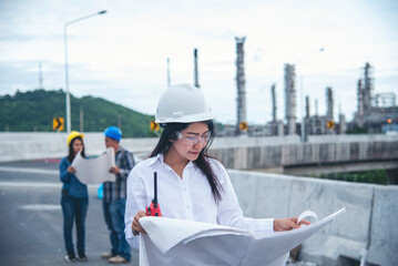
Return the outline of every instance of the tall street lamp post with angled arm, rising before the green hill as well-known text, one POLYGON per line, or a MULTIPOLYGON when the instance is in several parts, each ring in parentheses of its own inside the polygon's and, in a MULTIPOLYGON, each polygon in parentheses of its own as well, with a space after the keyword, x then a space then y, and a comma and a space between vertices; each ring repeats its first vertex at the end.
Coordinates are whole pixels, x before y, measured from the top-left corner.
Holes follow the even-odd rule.
POLYGON ((67 131, 68 134, 71 132, 71 100, 69 93, 69 65, 68 65, 68 25, 75 23, 81 20, 89 19, 94 16, 104 14, 106 10, 102 10, 100 12, 95 12, 92 14, 84 16, 82 18, 68 21, 63 27, 63 43, 64 43, 64 51, 65 51, 65 94, 67 94, 67 131))

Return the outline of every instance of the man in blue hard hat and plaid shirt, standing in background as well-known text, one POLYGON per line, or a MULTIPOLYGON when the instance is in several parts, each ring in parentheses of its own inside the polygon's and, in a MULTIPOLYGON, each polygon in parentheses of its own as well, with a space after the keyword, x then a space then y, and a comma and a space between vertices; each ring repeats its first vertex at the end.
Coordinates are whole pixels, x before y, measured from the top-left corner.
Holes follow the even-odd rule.
POLYGON ((123 264, 129 263, 131 258, 131 248, 124 236, 124 211, 127 177, 135 163, 133 154, 119 144, 122 139, 122 131, 119 127, 109 126, 104 135, 106 149, 114 149, 115 166, 109 172, 116 175, 116 181, 103 183, 102 207, 112 248, 101 257, 109 258, 112 264, 123 264))

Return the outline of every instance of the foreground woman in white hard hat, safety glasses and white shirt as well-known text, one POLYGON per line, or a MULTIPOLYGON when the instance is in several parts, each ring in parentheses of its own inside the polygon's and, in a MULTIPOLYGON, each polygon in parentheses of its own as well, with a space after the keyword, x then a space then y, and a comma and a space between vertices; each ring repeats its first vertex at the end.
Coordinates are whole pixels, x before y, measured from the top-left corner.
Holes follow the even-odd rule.
MULTIPOLYGON (((157 198, 162 216, 221 224, 257 233, 297 228, 297 218, 253 219, 243 216, 225 167, 207 155, 214 139, 215 115, 202 91, 190 84, 169 88, 156 109, 163 133, 150 157, 127 178, 125 234, 136 247, 144 229, 140 218, 153 198, 153 172, 157 172, 157 198)), ((308 223, 308 222, 304 222, 308 223)))

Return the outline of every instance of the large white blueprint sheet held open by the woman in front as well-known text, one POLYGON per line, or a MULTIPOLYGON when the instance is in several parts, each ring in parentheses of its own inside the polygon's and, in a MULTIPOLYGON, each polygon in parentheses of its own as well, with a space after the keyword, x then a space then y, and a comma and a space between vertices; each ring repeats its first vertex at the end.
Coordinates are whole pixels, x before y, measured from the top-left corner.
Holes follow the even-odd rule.
POLYGON ((298 229, 271 234, 192 221, 143 217, 140 223, 147 235, 140 235, 140 265, 285 265, 290 249, 345 211, 341 208, 298 229))

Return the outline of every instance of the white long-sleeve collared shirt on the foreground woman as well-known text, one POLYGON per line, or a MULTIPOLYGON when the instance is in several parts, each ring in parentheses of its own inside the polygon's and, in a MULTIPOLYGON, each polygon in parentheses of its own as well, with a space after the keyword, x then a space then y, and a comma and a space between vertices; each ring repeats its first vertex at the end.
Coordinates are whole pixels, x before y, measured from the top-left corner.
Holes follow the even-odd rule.
POLYGON ((248 229, 255 233, 274 232, 274 219, 254 219, 243 216, 235 191, 225 167, 210 158, 211 167, 222 186, 222 198, 215 202, 206 175, 190 162, 181 178, 166 163, 163 155, 139 163, 127 178, 125 207, 125 238, 130 246, 139 248, 139 237, 131 224, 139 211, 145 211, 154 197, 153 173, 157 172, 157 202, 162 216, 188 219, 248 229))

